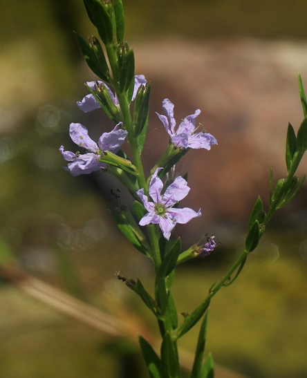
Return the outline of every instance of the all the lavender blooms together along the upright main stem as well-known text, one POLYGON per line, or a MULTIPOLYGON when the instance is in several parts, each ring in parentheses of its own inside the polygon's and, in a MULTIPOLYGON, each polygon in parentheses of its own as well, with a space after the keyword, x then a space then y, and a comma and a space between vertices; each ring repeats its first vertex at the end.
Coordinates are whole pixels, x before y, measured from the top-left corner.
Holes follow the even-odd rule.
MULTIPOLYGON (((87 82, 86 84, 93 93, 103 88, 104 93, 106 93, 106 96, 109 97, 111 101, 111 106, 115 106, 115 108, 120 111, 118 97, 113 94, 109 86, 104 82, 87 82)), ((146 84, 147 81, 144 75, 136 75, 132 101, 136 99, 138 88, 146 84)), ((85 113, 100 108, 100 103, 96 100, 93 93, 86 95, 82 101, 77 102, 77 106, 85 113)), ((210 150, 212 144, 217 144, 216 139, 211 134, 205 133, 204 131, 196 133, 195 119, 201 113, 199 109, 196 110, 194 114, 185 117, 175 131, 174 104, 168 99, 165 99, 162 102, 162 108, 167 114, 167 117, 157 114, 175 147, 181 149, 203 148, 210 150)), ((73 142, 79 147, 84 148, 86 152, 80 153, 78 151, 77 153, 73 153, 71 151, 64 151, 63 146, 59 148, 59 151, 62 153, 64 159, 69 162, 68 167, 64 167, 64 169, 69 171, 72 176, 78 176, 106 168, 106 162, 102 162, 103 155, 106 151, 110 151, 114 154, 118 153, 128 132, 122 129, 122 122, 119 122, 111 132, 102 133, 97 144, 89 137, 86 127, 80 123, 72 123, 69 134, 73 142)), ((142 217, 139 224, 141 226, 149 224, 159 225, 163 236, 169 240, 171 231, 174 229, 176 223, 185 224, 189 222, 189 220, 192 220, 192 218, 201 216, 201 210, 196 212, 188 207, 178 209, 178 202, 187 196, 190 188, 187 186, 187 181, 181 176, 178 176, 169 187, 164 189, 163 182, 158 176, 158 173, 162 169, 162 167, 157 168, 151 176, 148 194, 152 201, 145 195, 145 188, 136 191, 145 209, 148 211, 147 214, 142 217)), ((206 244, 203 247, 201 256, 204 256, 207 252, 209 253, 209 250, 214 248, 214 237, 210 239, 210 243, 210 245, 206 244)))

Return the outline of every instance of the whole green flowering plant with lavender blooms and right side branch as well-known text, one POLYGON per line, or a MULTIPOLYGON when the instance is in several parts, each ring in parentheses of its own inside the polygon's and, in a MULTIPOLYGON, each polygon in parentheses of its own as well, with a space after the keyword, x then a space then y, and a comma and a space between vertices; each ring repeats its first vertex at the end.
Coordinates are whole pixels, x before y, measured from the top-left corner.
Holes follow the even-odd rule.
MULTIPOLYGON (((132 213, 122 204, 111 214, 120 231, 131 244, 147 256, 154 265, 153 298, 140 280, 122 278, 145 303, 158 322, 161 348, 157 352, 149 342, 139 337, 142 355, 152 378, 181 377, 177 341, 198 321, 202 321, 198 343, 191 366, 191 378, 213 377, 214 363, 209 354, 205 358, 207 313, 213 296, 222 288, 230 286, 242 271, 248 254, 258 245, 277 209, 286 205, 297 193, 305 176, 299 180, 295 176, 299 162, 307 149, 307 103, 301 77, 299 93, 304 111, 304 120, 297 134, 288 125, 286 137, 286 177, 279 180, 273 189, 272 169, 270 174, 270 202, 268 211, 263 209, 261 198, 257 198, 252 209, 245 239, 245 247, 232 266, 218 283, 214 283, 198 307, 178 319, 176 302, 171 295, 171 282, 176 266, 198 256, 205 257, 214 251, 214 235, 205 243, 197 242, 185 251, 180 238, 174 237, 177 223, 185 224, 201 216, 201 210, 180 207, 180 201, 189 193, 187 180, 167 173, 174 171, 175 165, 191 149, 209 151, 216 138, 196 124, 198 109, 187 115, 178 126, 174 118, 174 104, 168 99, 162 101, 165 115, 156 113, 169 137, 169 144, 149 173, 142 162, 142 149, 149 127, 150 84, 144 75, 135 74, 134 53, 124 42, 124 11, 122 0, 84 0, 89 19, 97 28, 102 40, 97 37, 84 40, 75 33, 77 43, 89 68, 97 76, 97 81, 87 82, 89 94, 77 106, 85 113, 100 109, 115 126, 103 125, 102 135, 94 142, 88 130, 80 123, 72 123, 69 129, 71 139, 81 151, 65 151, 60 147, 68 166, 64 167, 73 176, 105 171, 118 178, 131 193, 132 213), (125 153, 121 150, 125 144, 125 153)), ((157 120, 158 121, 158 120, 157 120)), ((207 152, 204 151, 207 154, 207 152)), ((209 159, 210 156, 206 155, 209 159)), ((97 174, 97 173, 96 173, 97 174)), ((205 213, 205 211, 204 211, 205 213)), ((194 220, 196 222, 196 220, 194 220)), ((206 234, 207 236, 207 234, 206 234)), ((201 283, 201 277, 199 277, 201 283)))

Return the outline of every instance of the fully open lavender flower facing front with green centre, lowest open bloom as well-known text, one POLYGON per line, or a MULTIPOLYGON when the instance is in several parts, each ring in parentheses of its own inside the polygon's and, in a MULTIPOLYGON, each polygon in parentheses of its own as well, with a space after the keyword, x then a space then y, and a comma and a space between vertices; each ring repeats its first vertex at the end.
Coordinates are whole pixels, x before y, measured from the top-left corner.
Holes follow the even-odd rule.
POLYGON ((144 189, 139 189, 136 193, 143 202, 148 213, 140 220, 140 225, 145 226, 149 223, 159 225, 163 236, 169 240, 171 230, 174 229, 176 223, 185 224, 192 218, 201 216, 201 209, 196 211, 185 207, 177 209, 173 206, 180 200, 187 196, 189 187, 187 181, 178 176, 174 182, 169 185, 164 194, 161 194, 163 189, 162 180, 158 177, 158 173, 162 168, 157 168, 149 183, 149 196, 154 202, 149 202, 147 196, 144 194, 144 189))

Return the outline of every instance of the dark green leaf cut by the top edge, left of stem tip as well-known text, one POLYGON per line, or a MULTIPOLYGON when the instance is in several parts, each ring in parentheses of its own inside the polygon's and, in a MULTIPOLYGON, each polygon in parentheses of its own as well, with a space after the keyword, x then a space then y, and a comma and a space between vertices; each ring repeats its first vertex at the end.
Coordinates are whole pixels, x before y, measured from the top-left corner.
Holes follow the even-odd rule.
POLYGON ((111 3, 102 3, 100 0, 91 0, 93 19, 100 38, 105 45, 113 41, 113 24, 108 10, 111 10, 111 3))

